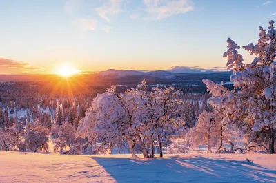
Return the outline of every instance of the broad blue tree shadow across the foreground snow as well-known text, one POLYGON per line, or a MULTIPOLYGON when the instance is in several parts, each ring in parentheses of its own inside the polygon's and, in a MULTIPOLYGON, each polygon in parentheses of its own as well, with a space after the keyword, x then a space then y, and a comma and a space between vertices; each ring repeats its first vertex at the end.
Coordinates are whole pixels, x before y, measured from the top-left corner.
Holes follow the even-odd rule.
POLYGON ((92 158, 117 182, 276 182, 276 171, 236 160, 92 158))

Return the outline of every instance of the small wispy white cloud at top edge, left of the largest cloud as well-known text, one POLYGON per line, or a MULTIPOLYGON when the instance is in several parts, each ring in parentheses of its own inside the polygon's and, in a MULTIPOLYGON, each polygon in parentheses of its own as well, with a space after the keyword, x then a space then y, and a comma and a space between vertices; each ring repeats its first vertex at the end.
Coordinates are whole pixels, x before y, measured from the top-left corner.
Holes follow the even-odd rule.
POLYGON ((110 22, 109 15, 117 15, 121 12, 122 0, 106 0, 99 8, 96 8, 97 14, 106 21, 110 22))

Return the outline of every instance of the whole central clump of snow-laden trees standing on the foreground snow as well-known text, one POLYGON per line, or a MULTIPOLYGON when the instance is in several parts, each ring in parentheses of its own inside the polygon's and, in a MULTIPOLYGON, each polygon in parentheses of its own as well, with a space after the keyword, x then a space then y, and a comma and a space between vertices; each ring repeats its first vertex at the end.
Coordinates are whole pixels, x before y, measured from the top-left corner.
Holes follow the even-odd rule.
POLYGON ((176 99, 175 88, 152 88, 146 90, 146 81, 126 93, 116 93, 111 86, 106 93, 98 94, 81 119, 77 134, 88 137, 90 142, 99 142, 101 148, 114 148, 128 144, 132 157, 135 152, 144 157, 154 157, 158 147, 170 144, 170 136, 181 130, 181 100, 176 99))

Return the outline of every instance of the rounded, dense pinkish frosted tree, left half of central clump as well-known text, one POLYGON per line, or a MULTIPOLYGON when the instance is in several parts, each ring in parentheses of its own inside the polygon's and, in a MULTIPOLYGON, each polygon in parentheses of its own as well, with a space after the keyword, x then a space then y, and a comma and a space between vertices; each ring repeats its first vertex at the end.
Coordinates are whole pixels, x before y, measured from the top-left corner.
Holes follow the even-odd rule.
POLYGON ((124 143, 128 134, 128 112, 121 97, 111 86, 106 93, 98 94, 86 111, 77 128, 79 137, 88 137, 93 144, 108 149, 124 143))

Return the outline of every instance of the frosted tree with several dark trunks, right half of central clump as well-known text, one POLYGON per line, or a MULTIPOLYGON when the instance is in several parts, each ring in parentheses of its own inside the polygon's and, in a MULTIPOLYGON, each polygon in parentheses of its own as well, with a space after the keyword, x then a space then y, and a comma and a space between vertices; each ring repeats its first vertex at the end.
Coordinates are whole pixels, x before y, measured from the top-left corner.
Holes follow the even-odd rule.
POLYGON ((134 131, 139 134, 137 142, 143 149, 144 156, 148 156, 146 147, 149 146, 149 157, 153 157, 156 143, 162 157, 162 147, 170 144, 170 136, 184 128, 181 119, 182 101, 177 99, 179 91, 173 87, 159 88, 157 85, 152 90, 147 92, 146 81, 142 81, 123 97, 130 116, 134 119, 134 131))

